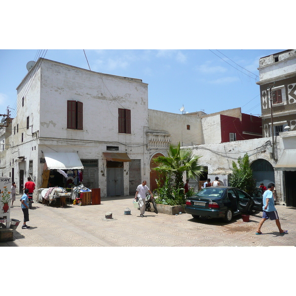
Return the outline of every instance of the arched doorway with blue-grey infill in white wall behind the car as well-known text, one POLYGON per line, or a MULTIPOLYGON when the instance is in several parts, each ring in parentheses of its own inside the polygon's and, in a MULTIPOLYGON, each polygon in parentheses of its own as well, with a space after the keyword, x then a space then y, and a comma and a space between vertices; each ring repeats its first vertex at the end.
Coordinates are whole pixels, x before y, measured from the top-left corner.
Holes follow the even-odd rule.
POLYGON ((274 169, 270 162, 265 159, 257 159, 251 164, 253 170, 253 178, 256 182, 256 187, 263 183, 266 188, 269 183, 274 183, 274 169))

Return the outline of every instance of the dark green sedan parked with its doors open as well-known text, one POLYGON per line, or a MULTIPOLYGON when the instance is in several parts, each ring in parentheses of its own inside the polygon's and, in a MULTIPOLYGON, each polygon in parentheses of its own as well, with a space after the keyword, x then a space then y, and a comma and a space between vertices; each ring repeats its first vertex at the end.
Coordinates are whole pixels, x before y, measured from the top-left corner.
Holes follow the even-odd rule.
POLYGON ((193 218, 222 218, 225 222, 230 222, 236 215, 256 211, 262 211, 262 198, 251 197, 241 189, 228 186, 203 188, 188 197, 185 205, 185 212, 193 218))

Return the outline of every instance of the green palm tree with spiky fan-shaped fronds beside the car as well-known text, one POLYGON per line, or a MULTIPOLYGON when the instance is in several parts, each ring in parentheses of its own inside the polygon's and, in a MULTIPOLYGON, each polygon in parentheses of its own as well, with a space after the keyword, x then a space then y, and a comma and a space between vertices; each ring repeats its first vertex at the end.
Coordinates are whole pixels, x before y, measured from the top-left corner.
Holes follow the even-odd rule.
POLYGON ((157 156, 154 162, 157 167, 154 170, 164 173, 167 178, 175 176, 175 188, 183 187, 183 174, 186 178, 195 179, 202 175, 204 168, 199 165, 199 155, 193 155, 190 148, 180 148, 171 144, 168 149, 168 156, 157 156))

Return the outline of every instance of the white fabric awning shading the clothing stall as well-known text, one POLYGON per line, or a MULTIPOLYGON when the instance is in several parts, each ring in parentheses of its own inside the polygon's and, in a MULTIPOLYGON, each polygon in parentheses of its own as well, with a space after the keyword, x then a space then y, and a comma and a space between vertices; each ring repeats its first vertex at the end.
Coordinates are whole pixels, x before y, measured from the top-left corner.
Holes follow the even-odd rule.
POLYGON ((75 152, 45 152, 46 165, 50 170, 81 170, 83 165, 75 152))

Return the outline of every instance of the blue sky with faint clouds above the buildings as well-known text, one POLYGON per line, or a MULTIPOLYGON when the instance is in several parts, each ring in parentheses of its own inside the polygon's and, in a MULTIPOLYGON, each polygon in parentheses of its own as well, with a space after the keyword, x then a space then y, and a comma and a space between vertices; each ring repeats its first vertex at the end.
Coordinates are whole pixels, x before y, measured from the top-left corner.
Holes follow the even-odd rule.
MULTIPOLYGON (((259 58, 282 49, 169 49, 87 50, 95 72, 140 78, 148 83, 148 108, 173 113, 207 114, 241 107, 261 114, 259 58)), ((88 69, 82 49, 0 50, 0 112, 15 114, 16 87, 27 73, 26 64, 46 59, 88 69)))

